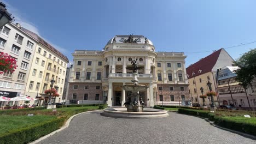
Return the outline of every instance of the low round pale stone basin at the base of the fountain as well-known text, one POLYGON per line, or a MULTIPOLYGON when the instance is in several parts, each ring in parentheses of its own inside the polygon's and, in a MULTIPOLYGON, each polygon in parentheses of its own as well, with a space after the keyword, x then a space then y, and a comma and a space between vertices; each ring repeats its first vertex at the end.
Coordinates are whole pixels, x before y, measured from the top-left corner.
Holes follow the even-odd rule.
POLYGON ((165 110, 144 108, 143 112, 127 112, 125 107, 110 107, 105 109, 101 115, 115 118, 159 118, 169 116, 165 110))

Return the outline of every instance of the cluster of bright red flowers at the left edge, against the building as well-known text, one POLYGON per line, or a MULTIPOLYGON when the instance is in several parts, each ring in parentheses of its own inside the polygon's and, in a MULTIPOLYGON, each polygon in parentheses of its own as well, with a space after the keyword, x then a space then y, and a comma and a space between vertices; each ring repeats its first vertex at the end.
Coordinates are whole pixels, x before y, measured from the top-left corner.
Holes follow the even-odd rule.
POLYGON ((17 67, 15 58, 12 58, 8 53, 0 52, 0 74, 7 71, 13 73, 17 67))

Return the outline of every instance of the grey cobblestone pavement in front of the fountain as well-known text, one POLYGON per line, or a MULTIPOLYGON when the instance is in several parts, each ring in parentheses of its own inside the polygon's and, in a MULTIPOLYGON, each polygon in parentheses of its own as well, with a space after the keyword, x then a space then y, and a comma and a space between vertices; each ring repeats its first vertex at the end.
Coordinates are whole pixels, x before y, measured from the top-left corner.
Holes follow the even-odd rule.
POLYGON ((213 127, 204 119, 169 112, 169 117, 126 119, 99 112, 74 117, 69 127, 39 143, 256 143, 213 127))

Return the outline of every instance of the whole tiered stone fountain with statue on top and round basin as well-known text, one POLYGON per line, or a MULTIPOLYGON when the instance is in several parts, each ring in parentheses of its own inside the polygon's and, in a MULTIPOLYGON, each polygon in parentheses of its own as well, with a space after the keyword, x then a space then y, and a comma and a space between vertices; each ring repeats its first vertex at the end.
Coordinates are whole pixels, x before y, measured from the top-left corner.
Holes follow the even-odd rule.
POLYGON ((102 116, 117 117, 117 118, 155 118, 155 117, 167 117, 169 116, 167 111, 144 108, 145 103, 142 98, 139 98, 139 92, 147 91, 147 85, 139 85, 137 75, 137 59, 131 62, 133 67, 132 84, 125 84, 123 89, 125 91, 132 92, 130 97, 127 97, 124 105, 126 107, 109 107, 101 113, 102 116))

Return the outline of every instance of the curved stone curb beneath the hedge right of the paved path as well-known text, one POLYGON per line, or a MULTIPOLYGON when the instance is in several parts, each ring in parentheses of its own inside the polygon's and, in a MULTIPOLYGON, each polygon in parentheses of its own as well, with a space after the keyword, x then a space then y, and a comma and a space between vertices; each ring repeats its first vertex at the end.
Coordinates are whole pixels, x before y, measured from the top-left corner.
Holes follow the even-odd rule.
MULTIPOLYGON (((179 113, 179 114, 186 115, 186 114, 183 114, 183 113, 179 113)), ((194 116, 194 115, 188 115, 188 116, 194 116)), ((194 116, 194 117, 199 117, 199 118, 205 119, 205 121, 209 122, 213 127, 223 129, 223 130, 226 130, 226 131, 230 131, 231 133, 235 133, 235 134, 242 135, 242 136, 248 137, 250 139, 256 140, 256 136, 254 136, 254 135, 246 134, 246 133, 243 133, 241 131, 236 131, 236 130, 232 130, 232 129, 228 129, 228 128, 224 128, 224 127, 220 127, 219 125, 214 124, 214 122, 210 121, 208 118, 204 118, 204 117, 200 117, 200 116, 194 116)))

